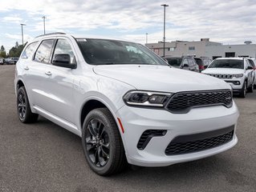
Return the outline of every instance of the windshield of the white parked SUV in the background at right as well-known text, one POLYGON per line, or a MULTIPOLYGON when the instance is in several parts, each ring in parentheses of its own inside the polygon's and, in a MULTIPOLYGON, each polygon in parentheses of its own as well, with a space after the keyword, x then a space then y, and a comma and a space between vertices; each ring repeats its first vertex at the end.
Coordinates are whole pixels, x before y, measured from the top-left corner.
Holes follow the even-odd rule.
POLYGON ((243 60, 235 59, 217 59, 214 60, 208 68, 234 68, 234 69, 244 69, 243 60))

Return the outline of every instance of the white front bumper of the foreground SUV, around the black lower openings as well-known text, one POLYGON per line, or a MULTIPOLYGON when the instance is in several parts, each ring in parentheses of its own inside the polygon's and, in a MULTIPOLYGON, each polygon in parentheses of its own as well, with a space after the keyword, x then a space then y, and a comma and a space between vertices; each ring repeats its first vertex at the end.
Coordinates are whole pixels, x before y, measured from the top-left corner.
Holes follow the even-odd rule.
POLYGON ((188 114, 172 114, 166 110, 153 110, 123 106, 116 112, 124 126, 122 134, 128 162, 137 166, 169 166, 178 162, 188 162, 221 153, 233 147, 238 138, 235 135, 238 108, 233 103, 225 106, 194 108, 188 114), (221 146, 189 154, 166 155, 169 143, 180 135, 198 134, 234 126, 234 136, 221 146), (167 130, 161 137, 153 137, 144 150, 137 148, 141 134, 145 130, 167 130))

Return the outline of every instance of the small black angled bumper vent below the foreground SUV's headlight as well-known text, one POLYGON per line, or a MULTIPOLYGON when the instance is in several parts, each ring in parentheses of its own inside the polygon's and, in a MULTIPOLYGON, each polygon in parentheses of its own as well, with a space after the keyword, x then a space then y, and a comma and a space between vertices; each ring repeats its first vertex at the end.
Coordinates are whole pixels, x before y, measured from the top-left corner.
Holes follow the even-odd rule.
POLYGON ((144 148, 148 145, 148 142, 150 142, 151 138, 164 136, 166 132, 166 130, 145 130, 140 136, 137 148, 139 150, 144 150, 144 148))

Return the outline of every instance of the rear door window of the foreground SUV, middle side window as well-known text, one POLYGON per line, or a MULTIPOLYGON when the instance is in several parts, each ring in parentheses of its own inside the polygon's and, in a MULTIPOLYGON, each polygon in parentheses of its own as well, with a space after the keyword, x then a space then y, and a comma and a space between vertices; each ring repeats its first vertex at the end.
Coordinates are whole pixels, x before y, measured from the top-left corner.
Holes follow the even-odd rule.
POLYGON ((53 46, 54 41, 55 41, 54 39, 47 39, 41 43, 41 45, 39 46, 39 49, 35 53, 34 60, 36 62, 49 63, 51 48, 53 46))

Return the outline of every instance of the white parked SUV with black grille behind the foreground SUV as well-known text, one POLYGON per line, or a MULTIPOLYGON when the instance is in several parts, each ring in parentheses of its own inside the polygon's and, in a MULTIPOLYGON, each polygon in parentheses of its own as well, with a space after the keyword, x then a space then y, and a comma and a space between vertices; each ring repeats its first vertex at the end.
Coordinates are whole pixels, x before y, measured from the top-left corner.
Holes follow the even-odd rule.
POLYGON ((216 58, 202 73, 228 82, 242 98, 254 90, 254 67, 246 58, 216 58))

